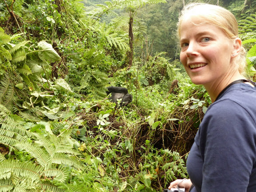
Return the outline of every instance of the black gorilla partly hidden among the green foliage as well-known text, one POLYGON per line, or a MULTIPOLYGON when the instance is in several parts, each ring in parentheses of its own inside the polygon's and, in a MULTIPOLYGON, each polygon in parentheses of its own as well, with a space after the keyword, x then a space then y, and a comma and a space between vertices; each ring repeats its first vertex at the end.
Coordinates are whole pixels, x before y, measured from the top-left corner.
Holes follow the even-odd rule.
POLYGON ((112 100, 112 102, 117 103, 117 99, 122 99, 119 108, 132 102, 132 95, 128 94, 127 88, 110 86, 107 87, 107 89, 107 94, 109 95, 111 93, 111 97, 108 98, 109 100, 112 100))

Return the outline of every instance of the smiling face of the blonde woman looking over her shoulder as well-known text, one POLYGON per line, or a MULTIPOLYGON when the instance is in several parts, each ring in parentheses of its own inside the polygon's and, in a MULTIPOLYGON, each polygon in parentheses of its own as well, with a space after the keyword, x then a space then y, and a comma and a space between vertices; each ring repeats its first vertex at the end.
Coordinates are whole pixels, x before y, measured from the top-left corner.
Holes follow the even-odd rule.
POLYGON ((180 26, 180 60, 194 84, 212 87, 232 76, 232 41, 212 24, 186 19, 180 26))

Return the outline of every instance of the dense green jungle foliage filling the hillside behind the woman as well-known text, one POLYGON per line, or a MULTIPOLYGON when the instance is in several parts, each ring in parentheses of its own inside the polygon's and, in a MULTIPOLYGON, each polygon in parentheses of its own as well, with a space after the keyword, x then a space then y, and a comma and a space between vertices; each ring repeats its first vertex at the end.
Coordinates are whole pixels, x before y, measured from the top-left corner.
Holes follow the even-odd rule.
MULTIPOLYGON (((178 60, 183 2, 0 2, 0 191, 162 192, 188 178, 211 101, 178 60), (110 85, 133 102, 107 100, 110 85)), ((218 2, 237 16, 256 80, 256 7, 218 2)))

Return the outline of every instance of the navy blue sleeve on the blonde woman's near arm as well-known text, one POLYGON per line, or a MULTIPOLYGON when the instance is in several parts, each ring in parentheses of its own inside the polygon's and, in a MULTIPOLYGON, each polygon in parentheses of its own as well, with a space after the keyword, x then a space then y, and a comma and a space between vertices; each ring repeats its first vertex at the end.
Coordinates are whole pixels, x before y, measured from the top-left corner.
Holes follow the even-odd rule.
POLYGON ((256 155, 256 124, 239 104, 214 104, 200 125, 202 192, 246 192, 256 155))

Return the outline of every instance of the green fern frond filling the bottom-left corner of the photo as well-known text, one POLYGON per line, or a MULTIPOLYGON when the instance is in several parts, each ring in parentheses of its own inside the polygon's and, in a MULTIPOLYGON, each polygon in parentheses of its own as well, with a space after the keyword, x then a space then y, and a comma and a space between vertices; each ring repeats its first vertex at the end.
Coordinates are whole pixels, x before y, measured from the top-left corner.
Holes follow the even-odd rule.
POLYGON ((48 192, 64 192, 47 180, 64 182, 68 176, 68 169, 53 164, 48 169, 31 162, 4 160, 0 163, 0 191, 35 192, 43 189, 48 192))

